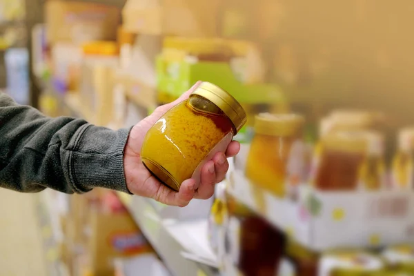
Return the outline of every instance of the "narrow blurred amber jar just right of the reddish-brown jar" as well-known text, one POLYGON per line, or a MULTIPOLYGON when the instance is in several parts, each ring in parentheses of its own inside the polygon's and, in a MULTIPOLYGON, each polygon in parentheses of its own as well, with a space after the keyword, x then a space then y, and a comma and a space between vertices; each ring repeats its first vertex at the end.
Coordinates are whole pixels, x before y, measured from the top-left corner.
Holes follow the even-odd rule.
POLYGON ((367 157, 362 163, 360 176, 366 190, 380 190, 386 185, 384 138, 379 132, 362 132, 368 144, 367 157))

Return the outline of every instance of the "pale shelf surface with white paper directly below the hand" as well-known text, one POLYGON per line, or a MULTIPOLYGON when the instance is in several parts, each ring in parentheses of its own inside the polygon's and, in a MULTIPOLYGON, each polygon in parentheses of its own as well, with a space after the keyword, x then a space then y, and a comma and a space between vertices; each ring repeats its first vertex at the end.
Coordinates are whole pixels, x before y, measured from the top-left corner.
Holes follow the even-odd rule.
POLYGON ((161 219, 152 199, 118 195, 173 275, 219 275, 217 257, 208 246, 206 219, 161 219))

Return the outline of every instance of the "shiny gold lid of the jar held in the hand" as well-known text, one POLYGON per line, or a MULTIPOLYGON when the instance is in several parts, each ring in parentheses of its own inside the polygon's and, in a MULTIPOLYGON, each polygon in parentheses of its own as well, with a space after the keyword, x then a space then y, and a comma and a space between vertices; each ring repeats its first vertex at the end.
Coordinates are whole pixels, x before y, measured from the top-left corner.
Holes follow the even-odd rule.
POLYGON ((204 81, 191 95, 199 95, 208 99, 218 106, 224 114, 232 121, 237 132, 246 124, 246 112, 240 103, 226 90, 215 86, 213 83, 204 81))

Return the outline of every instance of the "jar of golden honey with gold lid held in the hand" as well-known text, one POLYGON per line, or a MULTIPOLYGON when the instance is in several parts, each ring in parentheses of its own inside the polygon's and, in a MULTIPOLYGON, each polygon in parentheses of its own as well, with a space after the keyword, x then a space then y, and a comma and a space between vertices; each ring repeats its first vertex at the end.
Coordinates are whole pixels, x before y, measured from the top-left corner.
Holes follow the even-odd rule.
POLYGON ((217 152, 226 152, 246 123, 246 112, 228 92, 203 82, 148 130, 141 149, 146 168, 172 190, 193 178, 217 152))

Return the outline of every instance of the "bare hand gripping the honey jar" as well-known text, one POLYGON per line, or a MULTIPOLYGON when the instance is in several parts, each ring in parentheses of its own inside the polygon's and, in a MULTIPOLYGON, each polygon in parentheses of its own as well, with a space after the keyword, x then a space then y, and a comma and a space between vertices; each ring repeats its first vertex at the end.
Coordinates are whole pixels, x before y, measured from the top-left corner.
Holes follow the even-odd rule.
POLYGON ((146 117, 136 124, 130 131, 124 154, 124 170, 126 177, 126 185, 131 193, 150 197, 161 203, 172 206, 187 206, 190 200, 208 199, 213 196, 215 184, 223 181, 228 170, 228 161, 226 157, 237 155, 240 150, 240 144, 232 141, 226 152, 217 152, 213 160, 208 161, 201 169, 201 183, 199 188, 195 190, 195 180, 187 179, 181 184, 179 192, 175 192, 161 184, 141 161, 141 147, 146 132, 164 115, 170 108, 177 105, 181 101, 187 99, 190 94, 199 86, 201 82, 197 82, 195 86, 185 92, 179 99, 159 106, 152 115, 146 117))

